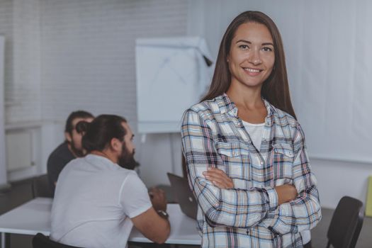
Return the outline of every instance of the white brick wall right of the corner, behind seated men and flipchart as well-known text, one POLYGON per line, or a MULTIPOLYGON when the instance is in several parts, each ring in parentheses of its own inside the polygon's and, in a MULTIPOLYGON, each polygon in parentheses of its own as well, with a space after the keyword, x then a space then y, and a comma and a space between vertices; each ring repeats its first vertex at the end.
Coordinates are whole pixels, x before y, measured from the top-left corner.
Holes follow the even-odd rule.
MULTIPOLYGON (((176 173, 181 171, 181 147, 174 152, 174 137, 168 134, 147 135, 140 142, 135 39, 185 35, 187 6, 172 0, 40 1, 43 120, 61 124, 77 109, 125 116, 136 135, 135 157, 148 186, 168 184, 166 172, 174 166, 176 173)), ((50 131, 62 133, 62 128, 50 131)))

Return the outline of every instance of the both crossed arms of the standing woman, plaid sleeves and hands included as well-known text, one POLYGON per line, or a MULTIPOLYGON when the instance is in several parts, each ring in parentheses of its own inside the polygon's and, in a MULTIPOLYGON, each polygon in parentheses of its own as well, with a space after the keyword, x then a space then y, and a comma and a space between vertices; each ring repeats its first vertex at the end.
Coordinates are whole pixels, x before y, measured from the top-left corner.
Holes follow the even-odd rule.
POLYGON ((297 152, 293 186, 275 188, 233 188, 231 179, 222 180, 213 174, 218 170, 208 170, 223 169, 224 164, 215 150, 210 127, 195 111, 184 115, 181 134, 189 183, 209 225, 247 228, 262 225, 285 234, 308 230, 320 220, 316 181, 310 172, 300 126, 294 142, 297 152))

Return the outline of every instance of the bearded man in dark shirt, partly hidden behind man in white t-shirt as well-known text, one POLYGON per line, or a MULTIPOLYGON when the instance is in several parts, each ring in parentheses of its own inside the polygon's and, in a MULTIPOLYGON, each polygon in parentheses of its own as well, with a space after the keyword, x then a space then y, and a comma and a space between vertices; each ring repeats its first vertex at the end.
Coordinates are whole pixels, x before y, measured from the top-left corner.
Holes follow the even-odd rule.
POLYGON ((82 133, 77 132, 77 123, 82 120, 90 123, 93 119, 94 116, 86 111, 74 111, 69 114, 64 127, 65 140, 55 148, 47 159, 47 176, 52 195, 54 195, 55 184, 64 166, 72 159, 84 156, 84 150, 81 147, 82 133))

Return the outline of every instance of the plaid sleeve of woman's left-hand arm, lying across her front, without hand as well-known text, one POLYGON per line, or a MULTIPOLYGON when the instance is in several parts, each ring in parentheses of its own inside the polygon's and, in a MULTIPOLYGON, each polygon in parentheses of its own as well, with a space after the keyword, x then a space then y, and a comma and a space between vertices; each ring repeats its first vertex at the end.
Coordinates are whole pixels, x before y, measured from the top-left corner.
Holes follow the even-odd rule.
POLYGON ((278 206, 274 188, 218 188, 205 179, 208 167, 224 168, 215 149, 210 127, 198 113, 184 115, 181 130, 182 147, 188 169, 188 180, 210 226, 252 227, 278 206))

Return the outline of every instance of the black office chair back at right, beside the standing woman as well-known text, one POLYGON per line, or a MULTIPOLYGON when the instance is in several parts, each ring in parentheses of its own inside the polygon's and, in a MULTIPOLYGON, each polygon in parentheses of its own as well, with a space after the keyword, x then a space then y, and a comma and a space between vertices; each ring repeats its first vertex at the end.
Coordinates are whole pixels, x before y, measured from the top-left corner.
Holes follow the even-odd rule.
POLYGON ((334 210, 328 227, 327 248, 354 248, 363 225, 363 203, 355 198, 344 196, 334 210))

